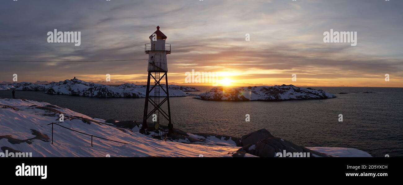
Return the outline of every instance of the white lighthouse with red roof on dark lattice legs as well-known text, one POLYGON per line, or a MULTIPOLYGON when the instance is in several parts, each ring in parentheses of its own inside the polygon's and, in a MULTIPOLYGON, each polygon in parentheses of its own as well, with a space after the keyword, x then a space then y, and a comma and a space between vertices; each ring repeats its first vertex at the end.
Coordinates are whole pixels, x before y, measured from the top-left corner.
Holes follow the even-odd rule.
MULTIPOLYGON (((171 122, 171 110, 169 106, 169 92, 168 92, 168 66, 166 63, 166 55, 171 54, 171 45, 166 43, 166 36, 160 31, 160 27, 157 26, 157 31, 150 35, 150 43, 145 44, 144 52, 148 54, 148 77, 147 77, 147 89, 145 91, 145 103, 143 114, 143 126, 140 129, 141 133, 148 133, 147 118, 152 117, 154 122, 154 129, 156 135, 154 137, 160 137, 160 117, 168 120, 168 134, 173 132, 173 125, 171 122), (150 80, 154 81, 150 85, 150 80), (165 87, 161 85, 161 80, 165 78, 165 87), (150 87, 151 86, 151 87, 150 87), (162 90, 162 91, 160 91, 162 90), (151 93, 151 94, 150 94, 151 93), (161 95, 161 96, 160 96, 161 95), (151 98, 154 96, 154 98, 151 98), (160 98, 162 99, 160 101, 160 98), (168 114, 162 109, 161 105, 164 103, 168 105, 168 114), (152 105, 151 112, 148 112, 149 103, 152 105), (155 115, 154 115, 155 114, 155 115), (156 120, 155 120, 156 118, 156 120)), ((151 108, 150 108, 151 109, 151 108)))

